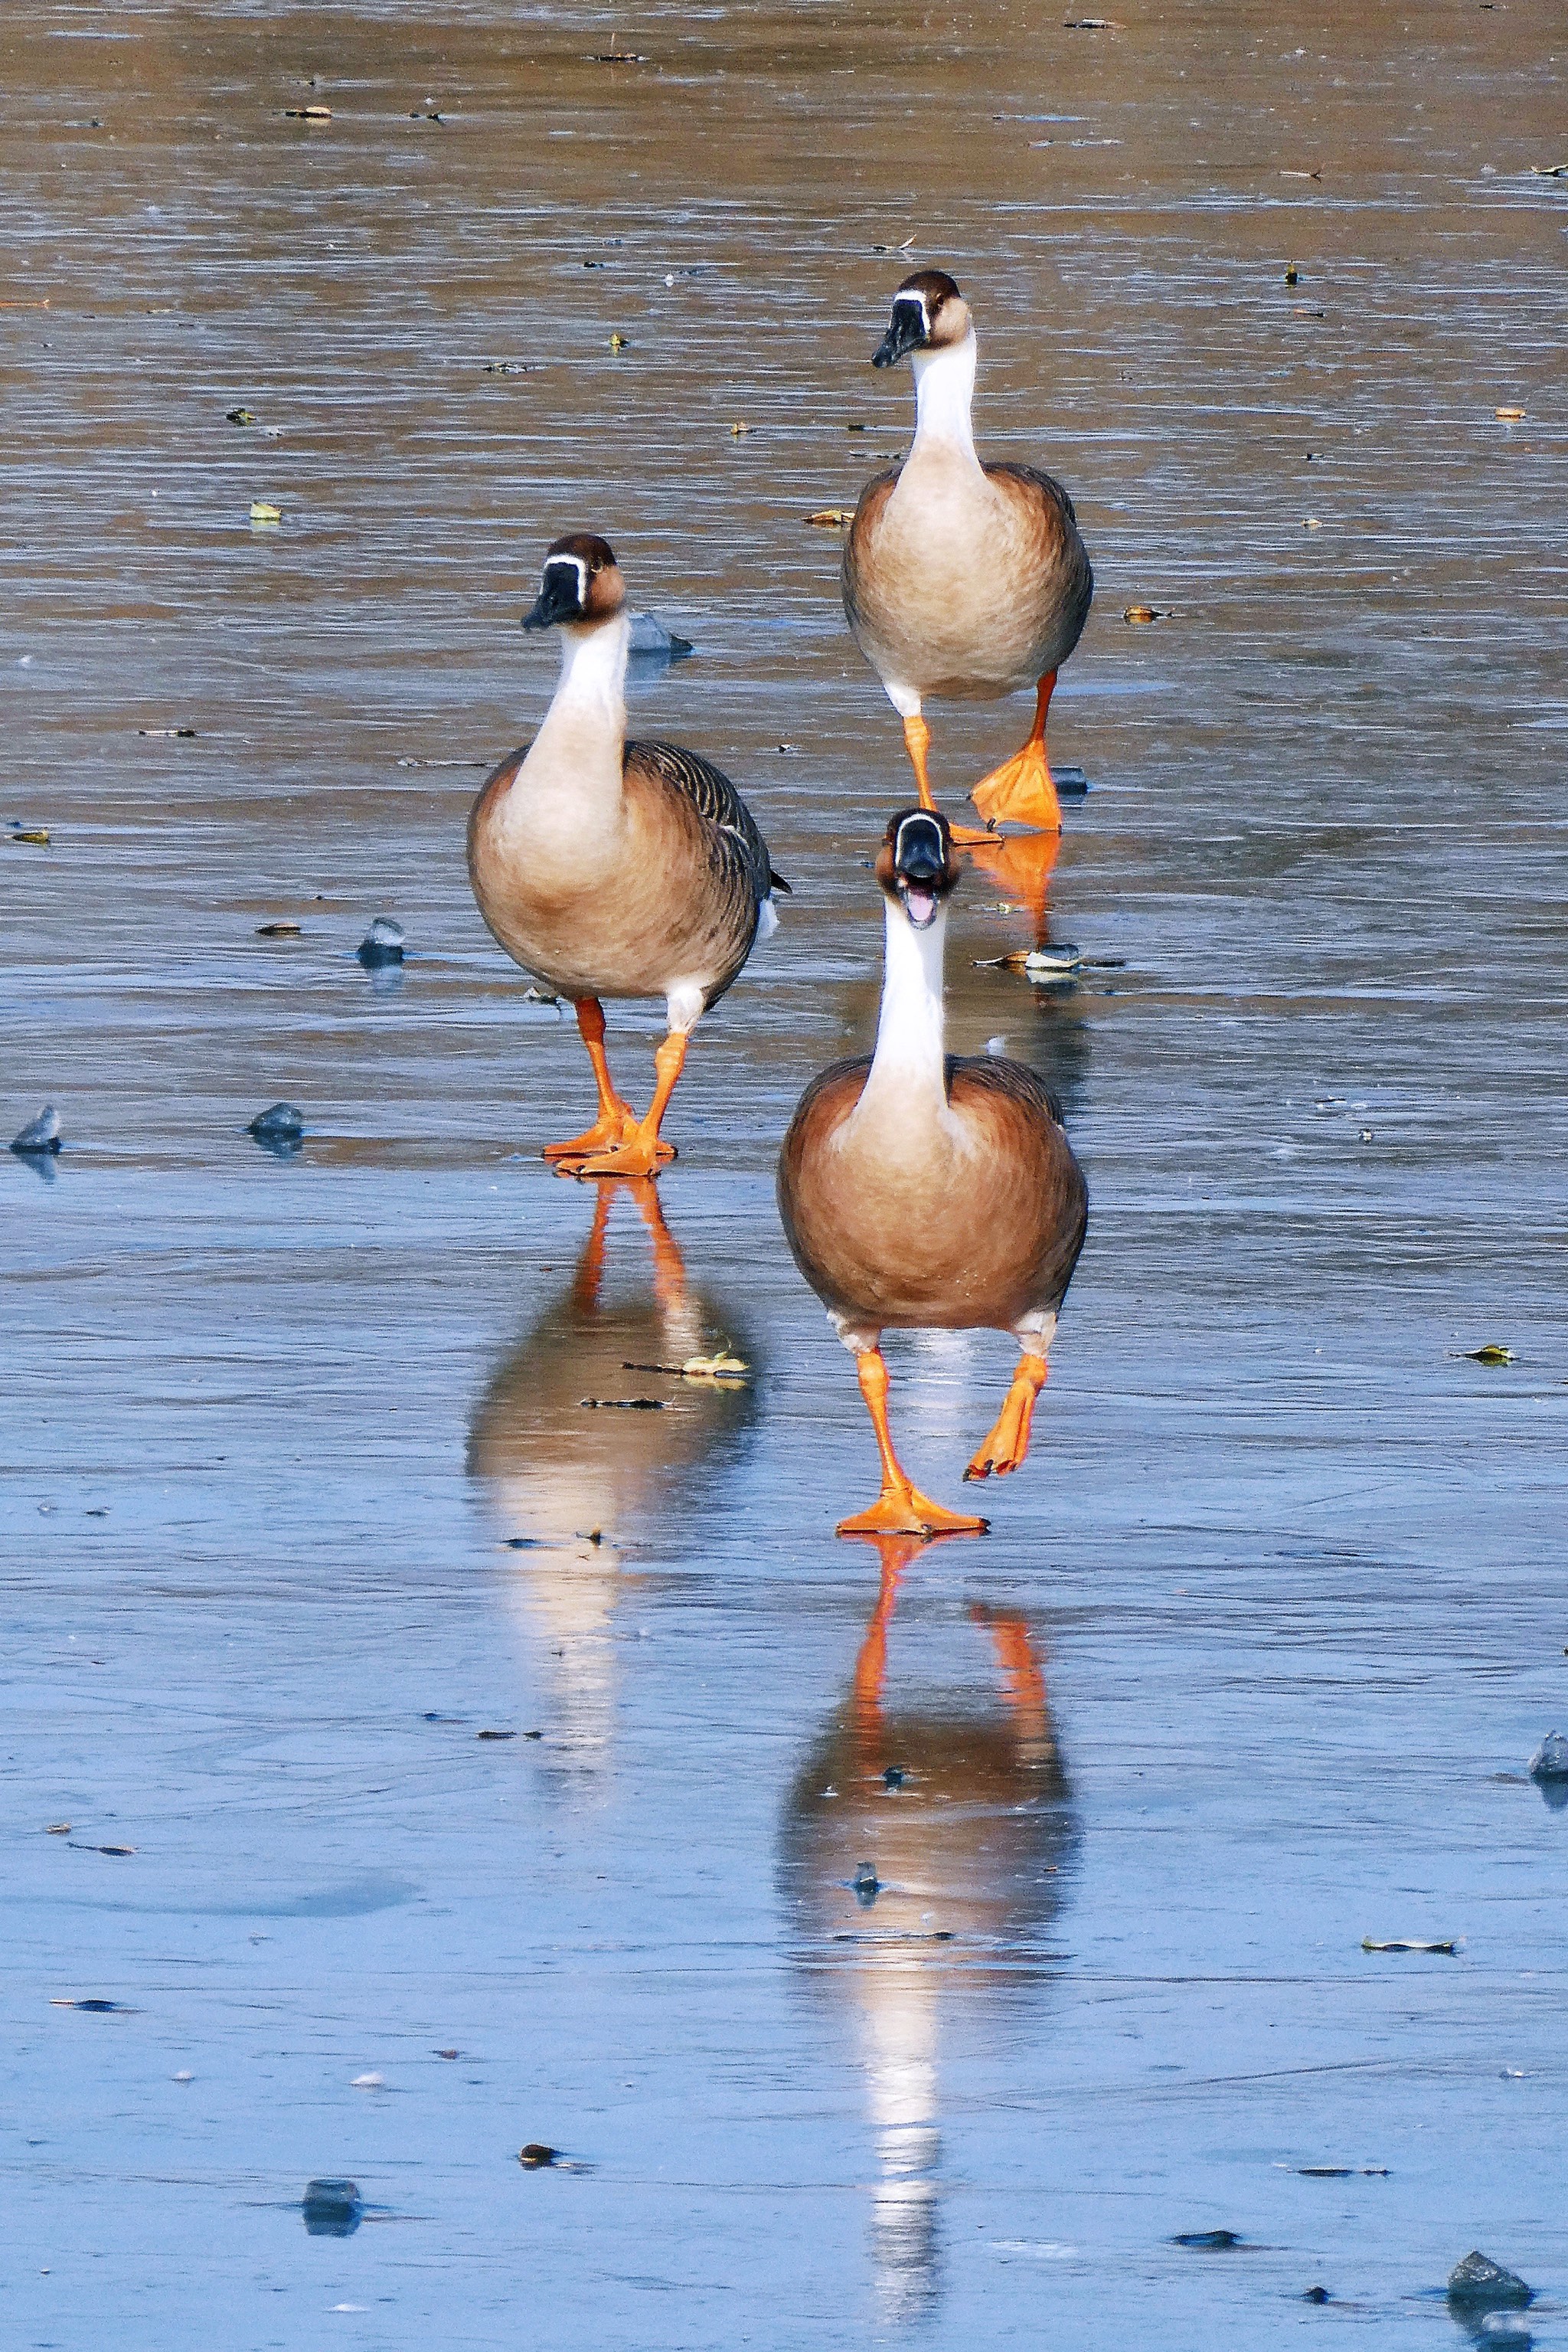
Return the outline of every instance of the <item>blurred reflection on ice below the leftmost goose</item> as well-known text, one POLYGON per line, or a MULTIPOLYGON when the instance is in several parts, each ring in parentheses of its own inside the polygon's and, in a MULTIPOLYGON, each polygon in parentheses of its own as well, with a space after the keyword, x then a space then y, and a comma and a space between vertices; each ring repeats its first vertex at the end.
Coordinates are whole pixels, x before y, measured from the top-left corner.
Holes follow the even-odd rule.
POLYGON ((755 1352, 689 1284, 656 1188, 595 1190, 571 1284, 503 1357, 468 1430, 468 1472, 512 1545, 508 1585, 548 1703, 550 1748, 578 1776, 602 1764, 614 1731, 625 1550, 661 1515, 684 1522, 712 1503, 755 1414, 750 1376, 679 1378, 682 1364, 722 1343, 752 1367, 755 1352), (623 1192, 651 1242, 651 1284, 646 1272, 628 1284, 609 1263, 611 1204, 623 1192), (661 1411, 632 1406, 635 1397, 658 1399, 661 1411))

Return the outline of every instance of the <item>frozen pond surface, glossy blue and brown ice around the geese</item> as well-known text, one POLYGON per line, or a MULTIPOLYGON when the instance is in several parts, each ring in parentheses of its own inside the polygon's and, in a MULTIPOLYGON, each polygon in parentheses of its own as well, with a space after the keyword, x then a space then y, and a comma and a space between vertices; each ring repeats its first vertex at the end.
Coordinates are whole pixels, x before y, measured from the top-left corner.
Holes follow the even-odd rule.
MULTIPOLYGON (((1465 2352, 1472 2246, 1568 2345, 1563 33, 1276 19, 5 7, 7 2345, 1465 2352), (1100 581, 950 971, 1093 1221, 992 1536, 879 1557, 771 1160, 907 797, 802 520, 907 238, 1100 581), (797 889, 602 1230, 463 873, 569 527, 797 889)), ((957 1501, 1009 1350, 891 1369, 957 1501)))

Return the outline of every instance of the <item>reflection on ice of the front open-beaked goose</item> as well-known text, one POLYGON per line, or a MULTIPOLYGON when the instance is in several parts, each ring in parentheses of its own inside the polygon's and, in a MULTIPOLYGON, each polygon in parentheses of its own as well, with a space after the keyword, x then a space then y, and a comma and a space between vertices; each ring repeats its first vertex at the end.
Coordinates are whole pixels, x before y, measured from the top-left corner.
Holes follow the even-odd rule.
POLYGON ((860 2044, 879 2321, 900 2326, 938 2293, 943 2018, 959 2002, 1016 2011, 1048 1983, 1079 1828, 1023 1616, 969 1609, 966 1637, 990 1651, 983 1710, 947 1691, 886 1703, 898 1583, 931 1545, 875 1541, 877 1606, 849 1698, 790 1792, 783 1891, 802 1964, 860 2044))

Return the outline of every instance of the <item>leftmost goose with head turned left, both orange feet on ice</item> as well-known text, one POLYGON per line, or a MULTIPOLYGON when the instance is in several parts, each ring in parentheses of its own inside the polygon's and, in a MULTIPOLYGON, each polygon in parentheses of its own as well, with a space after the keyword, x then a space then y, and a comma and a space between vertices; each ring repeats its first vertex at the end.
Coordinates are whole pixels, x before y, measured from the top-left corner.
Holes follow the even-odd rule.
POLYGON ((625 736, 630 623, 616 550, 592 532, 545 553, 527 630, 559 628, 562 675, 531 746, 487 776, 468 818, 480 915, 524 971, 569 997, 599 1115, 548 1143, 564 1176, 656 1176, 686 1040, 778 924, 766 842, 729 776, 677 743, 625 736), (604 997, 663 997, 646 1117, 616 1094, 604 997))

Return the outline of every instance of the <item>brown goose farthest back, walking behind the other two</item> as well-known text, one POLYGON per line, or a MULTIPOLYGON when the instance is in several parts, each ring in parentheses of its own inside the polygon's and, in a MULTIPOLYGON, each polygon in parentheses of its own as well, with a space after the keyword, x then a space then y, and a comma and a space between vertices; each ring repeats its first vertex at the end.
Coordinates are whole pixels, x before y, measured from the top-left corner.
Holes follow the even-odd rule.
MULTIPOLYGON (((976 329, 945 270, 914 270, 893 294, 872 367, 905 355, 914 367, 914 442, 903 466, 860 492, 844 543, 844 612, 903 720, 922 809, 936 807, 926 696, 997 701, 1034 687, 1027 743, 969 797, 992 830, 1013 818, 1060 833, 1046 710, 1093 597, 1072 499, 1034 466, 983 466, 976 456, 976 329)), ((957 840, 985 835, 957 828, 957 840)))

